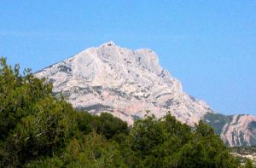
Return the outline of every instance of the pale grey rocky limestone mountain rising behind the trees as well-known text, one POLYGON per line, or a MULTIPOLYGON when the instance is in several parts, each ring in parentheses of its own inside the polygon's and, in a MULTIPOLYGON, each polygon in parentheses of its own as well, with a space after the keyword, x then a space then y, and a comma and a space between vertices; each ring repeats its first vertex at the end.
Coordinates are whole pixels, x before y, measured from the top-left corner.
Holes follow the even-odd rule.
POLYGON ((182 84, 164 68, 151 49, 125 49, 113 42, 89 48, 65 61, 36 72, 53 83, 73 107, 98 114, 112 113, 133 124, 154 114, 172 113, 195 125, 204 119, 230 146, 256 145, 256 118, 224 116, 204 101, 183 92, 182 84))

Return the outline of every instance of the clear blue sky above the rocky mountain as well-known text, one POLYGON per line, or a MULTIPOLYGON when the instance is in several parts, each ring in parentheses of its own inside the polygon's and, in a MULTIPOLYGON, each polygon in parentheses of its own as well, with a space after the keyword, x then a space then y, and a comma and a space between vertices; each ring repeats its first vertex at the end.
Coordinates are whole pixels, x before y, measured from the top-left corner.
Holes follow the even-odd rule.
POLYGON ((0 1, 0 55, 37 71, 90 46, 150 48, 183 90, 256 115, 256 1, 0 1))

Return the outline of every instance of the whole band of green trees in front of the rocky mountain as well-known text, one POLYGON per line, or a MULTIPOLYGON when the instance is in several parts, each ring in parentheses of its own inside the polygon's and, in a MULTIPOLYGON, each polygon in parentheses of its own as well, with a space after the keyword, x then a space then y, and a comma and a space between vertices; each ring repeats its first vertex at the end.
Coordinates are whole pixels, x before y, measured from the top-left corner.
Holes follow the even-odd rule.
MULTIPOLYGON (((245 167, 253 167, 247 161, 245 167)), ((78 112, 29 70, 0 62, 0 167, 241 167, 202 121, 167 114, 129 127, 109 113, 78 112)))

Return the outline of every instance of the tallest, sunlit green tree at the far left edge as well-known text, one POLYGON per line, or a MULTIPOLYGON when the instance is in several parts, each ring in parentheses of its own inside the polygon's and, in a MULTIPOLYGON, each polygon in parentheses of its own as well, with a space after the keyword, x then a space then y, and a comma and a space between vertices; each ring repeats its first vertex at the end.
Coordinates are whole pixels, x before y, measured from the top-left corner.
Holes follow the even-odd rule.
POLYGON ((19 66, 0 62, 0 166, 20 166, 65 146, 76 125, 74 110, 52 95, 52 86, 20 75, 19 66))

